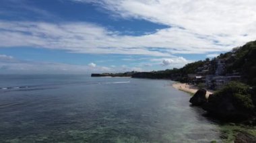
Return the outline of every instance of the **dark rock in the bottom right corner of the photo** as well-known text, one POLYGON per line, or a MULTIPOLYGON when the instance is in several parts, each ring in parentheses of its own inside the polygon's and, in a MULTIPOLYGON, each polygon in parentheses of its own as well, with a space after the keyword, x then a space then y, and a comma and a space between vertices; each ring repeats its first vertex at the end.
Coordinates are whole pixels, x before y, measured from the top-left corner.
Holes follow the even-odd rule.
POLYGON ((251 134, 240 132, 236 135, 236 139, 234 140, 235 143, 253 143, 256 142, 255 136, 251 134))

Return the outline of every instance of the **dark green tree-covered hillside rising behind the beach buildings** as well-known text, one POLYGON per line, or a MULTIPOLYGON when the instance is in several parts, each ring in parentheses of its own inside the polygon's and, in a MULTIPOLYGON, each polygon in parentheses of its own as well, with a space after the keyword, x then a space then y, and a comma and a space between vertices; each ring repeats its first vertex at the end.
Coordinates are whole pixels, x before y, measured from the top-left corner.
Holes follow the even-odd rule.
POLYGON ((199 60, 183 66, 183 68, 172 68, 166 70, 135 73, 132 77, 149 79, 172 79, 187 83, 188 74, 197 74, 203 67, 207 68, 205 75, 214 75, 216 63, 218 60, 224 60, 226 68, 222 75, 241 75, 241 82, 247 85, 256 86, 256 41, 248 42, 244 46, 233 48, 231 52, 220 54, 210 60, 199 60))

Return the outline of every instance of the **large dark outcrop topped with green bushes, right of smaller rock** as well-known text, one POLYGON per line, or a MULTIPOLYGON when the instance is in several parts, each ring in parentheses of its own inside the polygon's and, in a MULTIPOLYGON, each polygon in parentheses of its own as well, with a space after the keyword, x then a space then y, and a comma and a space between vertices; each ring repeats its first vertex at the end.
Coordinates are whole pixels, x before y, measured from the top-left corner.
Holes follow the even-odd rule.
POLYGON ((255 109, 251 97, 249 86, 230 82, 208 97, 203 109, 224 120, 245 120, 253 115, 255 109))

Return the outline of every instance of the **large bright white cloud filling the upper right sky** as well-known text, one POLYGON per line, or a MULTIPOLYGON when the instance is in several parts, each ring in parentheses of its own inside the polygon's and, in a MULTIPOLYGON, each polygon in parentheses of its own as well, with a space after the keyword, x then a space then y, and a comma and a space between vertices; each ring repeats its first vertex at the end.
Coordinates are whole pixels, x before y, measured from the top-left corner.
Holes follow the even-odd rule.
POLYGON ((99 5, 114 16, 145 19, 170 26, 151 34, 153 41, 148 42, 154 47, 178 50, 172 52, 225 51, 256 39, 255 0, 79 1, 99 5))

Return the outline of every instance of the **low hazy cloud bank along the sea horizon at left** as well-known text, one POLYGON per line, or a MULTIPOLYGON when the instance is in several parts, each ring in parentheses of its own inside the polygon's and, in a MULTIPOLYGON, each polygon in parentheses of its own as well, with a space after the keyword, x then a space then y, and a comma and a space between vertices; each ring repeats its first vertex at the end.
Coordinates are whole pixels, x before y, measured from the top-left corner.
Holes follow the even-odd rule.
POLYGON ((34 62, 19 60, 12 56, 0 54, 0 74, 90 74, 119 73, 127 71, 143 71, 137 66, 98 66, 94 62, 88 65, 63 64, 59 62, 34 62))

